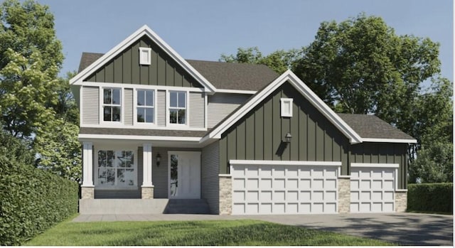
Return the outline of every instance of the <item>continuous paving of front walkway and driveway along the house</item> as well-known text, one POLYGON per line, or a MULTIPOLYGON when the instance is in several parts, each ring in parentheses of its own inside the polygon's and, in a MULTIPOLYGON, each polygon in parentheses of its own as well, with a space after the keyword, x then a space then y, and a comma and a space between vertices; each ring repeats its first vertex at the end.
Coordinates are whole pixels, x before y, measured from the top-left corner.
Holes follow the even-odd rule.
POLYGON ((415 213, 339 215, 79 215, 73 222, 264 220, 405 245, 453 246, 453 215, 415 213))

